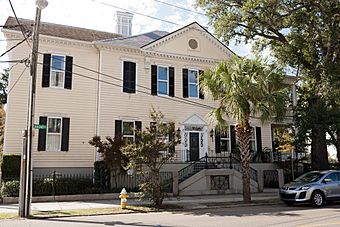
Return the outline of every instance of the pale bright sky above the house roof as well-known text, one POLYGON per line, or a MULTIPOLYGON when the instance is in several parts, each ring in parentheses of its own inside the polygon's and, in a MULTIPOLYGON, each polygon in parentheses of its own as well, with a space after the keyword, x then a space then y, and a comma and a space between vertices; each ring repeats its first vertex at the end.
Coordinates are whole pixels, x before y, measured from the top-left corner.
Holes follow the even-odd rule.
MULTIPOLYGON (((171 32, 194 21, 197 21, 202 26, 208 26, 206 16, 171 7, 159 1, 195 10, 195 0, 48 0, 49 5, 42 11, 41 20, 115 32, 114 13, 117 10, 123 11, 122 9, 113 7, 116 6, 131 10, 132 13, 137 12, 178 24, 162 22, 135 13, 133 18, 133 35, 153 30, 171 32)), ((19 18, 34 20, 35 0, 12 0, 12 4, 19 18)), ((14 16, 14 14, 8 0, 0 0, 0 9, 0 24, 3 25, 7 17, 14 16)), ((199 9, 197 10, 203 13, 199 9)), ((209 27, 209 31, 214 33, 211 27, 209 27)), ((5 38, 3 34, 0 33, 0 53, 6 50, 6 42, 4 42, 3 39, 5 38)), ((250 54, 250 45, 229 45, 229 48, 241 56, 250 54)), ((0 61, 4 60, 8 60, 7 56, 0 58, 0 61)), ((8 67, 8 65, 0 63, 1 71, 4 67, 8 67)))

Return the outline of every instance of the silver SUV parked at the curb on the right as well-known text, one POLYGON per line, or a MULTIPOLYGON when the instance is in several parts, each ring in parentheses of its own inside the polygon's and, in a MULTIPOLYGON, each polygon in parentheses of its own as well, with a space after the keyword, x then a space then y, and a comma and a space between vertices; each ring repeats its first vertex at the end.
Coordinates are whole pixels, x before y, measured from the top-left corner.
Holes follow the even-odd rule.
POLYGON ((280 199, 287 205, 311 202, 320 207, 325 201, 340 201, 340 171, 312 171, 280 188, 280 199))

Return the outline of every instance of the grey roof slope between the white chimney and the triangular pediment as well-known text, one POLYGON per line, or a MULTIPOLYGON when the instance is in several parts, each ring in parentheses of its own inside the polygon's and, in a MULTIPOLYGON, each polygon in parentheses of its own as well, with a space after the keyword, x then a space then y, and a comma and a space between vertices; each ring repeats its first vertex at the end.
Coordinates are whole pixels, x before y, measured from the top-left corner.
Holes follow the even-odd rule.
POLYGON ((107 40, 99 40, 98 43, 111 44, 114 46, 124 46, 124 47, 137 47, 141 48, 144 45, 147 45, 155 40, 158 40, 165 35, 169 34, 166 31, 153 31, 140 35, 129 36, 129 37, 120 37, 114 39, 107 40))

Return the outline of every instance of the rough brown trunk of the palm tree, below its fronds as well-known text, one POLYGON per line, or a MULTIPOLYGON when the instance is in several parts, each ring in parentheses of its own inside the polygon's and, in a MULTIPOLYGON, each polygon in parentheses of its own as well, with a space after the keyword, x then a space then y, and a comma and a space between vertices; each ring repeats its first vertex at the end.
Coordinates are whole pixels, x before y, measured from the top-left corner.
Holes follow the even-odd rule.
POLYGON ((252 128, 250 127, 248 120, 244 124, 236 125, 236 135, 239 139, 239 148, 241 155, 243 201, 245 202, 251 201, 249 175, 251 130, 252 128))

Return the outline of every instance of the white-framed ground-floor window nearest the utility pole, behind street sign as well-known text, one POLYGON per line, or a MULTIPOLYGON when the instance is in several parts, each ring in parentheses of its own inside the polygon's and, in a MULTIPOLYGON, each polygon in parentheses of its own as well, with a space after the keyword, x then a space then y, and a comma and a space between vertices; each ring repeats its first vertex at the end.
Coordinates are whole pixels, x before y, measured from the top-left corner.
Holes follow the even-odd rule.
POLYGON ((46 150, 61 151, 61 118, 47 118, 46 150))

